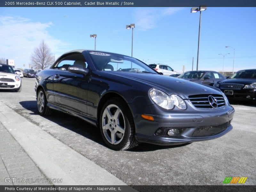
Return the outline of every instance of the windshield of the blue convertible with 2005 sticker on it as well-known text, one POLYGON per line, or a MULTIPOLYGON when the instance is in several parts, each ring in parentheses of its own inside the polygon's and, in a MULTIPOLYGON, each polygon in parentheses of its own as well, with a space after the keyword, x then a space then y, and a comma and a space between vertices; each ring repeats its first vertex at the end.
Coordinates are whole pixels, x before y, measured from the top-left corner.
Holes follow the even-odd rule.
POLYGON ((95 67, 100 71, 127 71, 157 74, 154 69, 132 57, 104 52, 89 52, 89 54, 95 67))

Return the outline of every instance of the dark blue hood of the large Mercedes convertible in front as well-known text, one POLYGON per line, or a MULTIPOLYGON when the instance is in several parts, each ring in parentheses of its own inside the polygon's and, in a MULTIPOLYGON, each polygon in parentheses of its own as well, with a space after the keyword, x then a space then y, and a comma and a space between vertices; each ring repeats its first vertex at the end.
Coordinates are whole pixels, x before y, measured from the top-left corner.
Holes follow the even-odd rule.
POLYGON ((222 94, 220 90, 217 88, 213 88, 203 84, 193 83, 191 81, 186 81, 183 79, 178 79, 170 76, 119 71, 112 71, 108 74, 148 85, 151 88, 162 90, 163 92, 169 95, 175 93, 180 95, 183 99, 188 98, 189 95, 222 94))

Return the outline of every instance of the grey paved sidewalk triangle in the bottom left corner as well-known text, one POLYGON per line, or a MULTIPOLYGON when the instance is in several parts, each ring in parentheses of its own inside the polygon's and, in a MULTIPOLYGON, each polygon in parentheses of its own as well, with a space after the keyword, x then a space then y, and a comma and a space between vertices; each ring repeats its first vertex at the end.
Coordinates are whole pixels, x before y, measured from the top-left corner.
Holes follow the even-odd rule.
POLYGON ((36 180, 40 180, 40 185, 51 185, 52 183, 47 181, 35 162, 2 123, 0 123, 0 133, 0 185, 33 185, 37 184, 36 180), (31 182, 19 182, 20 180, 10 178, 25 178, 31 182), (42 180, 44 182, 41 182, 42 180), (32 183, 33 181, 35 183, 32 183))

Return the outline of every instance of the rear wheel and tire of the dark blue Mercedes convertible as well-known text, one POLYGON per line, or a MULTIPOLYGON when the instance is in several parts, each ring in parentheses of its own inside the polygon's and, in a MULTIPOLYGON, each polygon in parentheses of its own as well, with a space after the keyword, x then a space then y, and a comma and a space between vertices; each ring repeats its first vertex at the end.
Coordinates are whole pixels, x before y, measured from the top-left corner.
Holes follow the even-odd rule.
POLYGON ((43 89, 38 90, 36 101, 36 109, 40 115, 47 116, 52 114, 52 109, 47 106, 47 99, 43 89))

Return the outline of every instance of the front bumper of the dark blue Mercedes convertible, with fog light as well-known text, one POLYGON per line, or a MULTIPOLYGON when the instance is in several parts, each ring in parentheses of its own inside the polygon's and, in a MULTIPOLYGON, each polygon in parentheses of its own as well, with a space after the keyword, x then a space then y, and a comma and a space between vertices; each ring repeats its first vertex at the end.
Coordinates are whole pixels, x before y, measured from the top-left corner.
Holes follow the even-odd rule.
POLYGON ((233 119, 234 111, 233 107, 227 106, 225 109, 212 110, 212 112, 207 111, 206 113, 198 111, 196 114, 147 114, 153 116, 154 121, 143 119, 137 114, 134 116, 136 129, 135 137, 139 142, 157 145, 179 145, 215 139, 232 130, 233 127, 230 123, 233 119), (211 130, 211 127, 218 127, 219 125, 225 125, 226 127, 221 131, 217 131, 216 134, 209 131, 209 135, 207 135, 207 129, 211 130), (182 132, 178 136, 168 136, 166 131, 165 136, 159 136, 156 132, 160 128, 164 128, 165 130, 177 128, 182 129, 182 132), (195 134, 195 132, 200 132, 202 129, 204 132, 203 136, 195 136, 198 135, 195 134))

